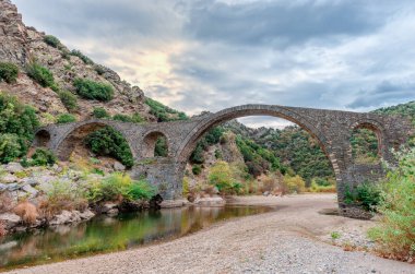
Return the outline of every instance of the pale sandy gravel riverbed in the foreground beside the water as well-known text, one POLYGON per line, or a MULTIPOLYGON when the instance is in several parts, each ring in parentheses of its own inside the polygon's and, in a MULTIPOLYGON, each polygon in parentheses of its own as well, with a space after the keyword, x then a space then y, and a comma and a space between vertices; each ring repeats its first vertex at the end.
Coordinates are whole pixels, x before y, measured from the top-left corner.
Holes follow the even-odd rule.
POLYGON ((372 225, 319 214, 335 206, 332 194, 238 198, 234 203, 281 207, 161 245, 11 273, 415 273, 415 265, 322 242, 335 229, 372 225))

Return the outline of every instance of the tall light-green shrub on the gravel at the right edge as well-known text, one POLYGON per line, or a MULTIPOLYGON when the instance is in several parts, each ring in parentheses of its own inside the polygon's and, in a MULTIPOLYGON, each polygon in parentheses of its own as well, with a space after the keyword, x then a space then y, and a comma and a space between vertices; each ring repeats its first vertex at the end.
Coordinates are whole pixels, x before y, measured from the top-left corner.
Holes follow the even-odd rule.
POLYGON ((369 230, 379 251, 400 260, 415 259, 415 148, 396 155, 399 166, 389 171, 377 210, 382 218, 369 230))

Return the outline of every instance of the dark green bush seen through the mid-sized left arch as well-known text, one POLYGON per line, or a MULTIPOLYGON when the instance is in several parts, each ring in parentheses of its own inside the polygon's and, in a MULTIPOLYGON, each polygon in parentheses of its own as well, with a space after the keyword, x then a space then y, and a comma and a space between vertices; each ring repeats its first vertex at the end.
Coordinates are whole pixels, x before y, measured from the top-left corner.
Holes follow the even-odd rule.
POLYGON ((85 144, 93 153, 111 156, 128 168, 133 165, 132 153, 126 139, 111 127, 91 133, 86 136, 85 144))

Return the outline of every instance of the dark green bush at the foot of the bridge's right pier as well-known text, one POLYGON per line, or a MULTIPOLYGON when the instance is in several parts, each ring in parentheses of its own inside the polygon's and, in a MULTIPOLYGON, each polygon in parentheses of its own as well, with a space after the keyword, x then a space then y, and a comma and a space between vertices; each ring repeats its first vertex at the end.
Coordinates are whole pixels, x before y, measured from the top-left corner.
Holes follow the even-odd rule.
POLYGON ((353 189, 347 188, 344 194, 344 202, 347 204, 359 204, 367 211, 375 211, 380 202, 379 187, 365 181, 353 189))

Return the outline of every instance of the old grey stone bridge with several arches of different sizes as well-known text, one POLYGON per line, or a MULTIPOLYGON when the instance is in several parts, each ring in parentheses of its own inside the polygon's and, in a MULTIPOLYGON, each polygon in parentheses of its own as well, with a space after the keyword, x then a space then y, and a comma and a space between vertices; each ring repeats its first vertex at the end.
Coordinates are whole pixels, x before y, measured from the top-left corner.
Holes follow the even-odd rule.
POLYGON ((346 186, 364 180, 378 180, 380 164, 356 164, 349 139, 354 129, 366 128, 378 136, 379 156, 393 163, 391 148, 398 148, 412 133, 411 123, 400 117, 351 111, 285 107, 276 105, 244 105, 206 114, 186 121, 138 124, 93 119, 66 124, 50 124, 36 132, 35 146, 52 150, 61 160, 68 160, 76 144, 91 132, 109 126, 123 134, 134 157, 131 174, 145 177, 156 184, 165 199, 181 198, 186 163, 198 140, 215 126, 246 116, 273 116, 289 120, 315 136, 330 159, 342 204, 346 186), (168 145, 166 157, 154 157, 158 136, 168 145))

